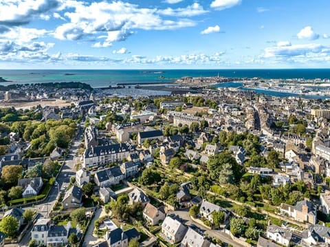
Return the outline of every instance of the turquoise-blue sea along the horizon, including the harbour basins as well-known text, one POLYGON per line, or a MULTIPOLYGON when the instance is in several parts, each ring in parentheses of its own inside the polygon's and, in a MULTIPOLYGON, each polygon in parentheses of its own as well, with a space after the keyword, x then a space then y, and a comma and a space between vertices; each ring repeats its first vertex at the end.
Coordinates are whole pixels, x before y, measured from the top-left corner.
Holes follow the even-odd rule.
MULTIPOLYGON (((265 79, 330 79, 330 69, 0 69, 0 77, 10 82, 1 85, 25 83, 81 82, 91 87, 109 87, 117 84, 153 85, 173 83, 184 76, 223 76, 231 78, 265 79)), ((218 87, 242 87, 240 83, 221 83, 218 87)), ((248 89, 261 94, 288 97, 297 96, 267 89, 248 89)), ((330 96, 303 96, 330 98, 330 96)))

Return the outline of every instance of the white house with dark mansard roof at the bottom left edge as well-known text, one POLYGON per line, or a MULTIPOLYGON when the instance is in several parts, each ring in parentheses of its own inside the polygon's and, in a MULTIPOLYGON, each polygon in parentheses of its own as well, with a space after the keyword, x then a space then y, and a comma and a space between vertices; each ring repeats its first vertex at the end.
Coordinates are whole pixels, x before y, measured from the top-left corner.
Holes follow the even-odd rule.
POLYGON ((31 239, 35 240, 38 245, 56 246, 58 244, 63 246, 63 244, 69 244, 69 235, 78 232, 79 230, 72 228, 70 223, 56 226, 52 224, 51 219, 38 219, 31 230, 31 239))

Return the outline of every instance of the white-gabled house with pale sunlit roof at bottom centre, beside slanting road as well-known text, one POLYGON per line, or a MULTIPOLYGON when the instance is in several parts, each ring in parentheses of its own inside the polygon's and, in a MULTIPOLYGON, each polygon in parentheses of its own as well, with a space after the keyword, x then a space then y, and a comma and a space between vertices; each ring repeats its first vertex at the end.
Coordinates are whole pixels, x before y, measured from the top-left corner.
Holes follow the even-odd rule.
POLYGON ((186 235, 187 230, 184 224, 169 216, 162 223, 162 235, 164 235, 164 239, 170 244, 176 244, 181 241, 184 235, 186 235))

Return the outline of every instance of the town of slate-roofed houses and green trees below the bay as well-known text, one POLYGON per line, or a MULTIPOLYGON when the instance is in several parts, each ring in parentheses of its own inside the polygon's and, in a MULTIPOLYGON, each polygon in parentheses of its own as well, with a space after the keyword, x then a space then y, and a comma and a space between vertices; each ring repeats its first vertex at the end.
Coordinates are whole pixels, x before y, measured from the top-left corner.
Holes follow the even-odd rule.
POLYGON ((330 100, 4 90, 0 246, 330 246, 330 100))

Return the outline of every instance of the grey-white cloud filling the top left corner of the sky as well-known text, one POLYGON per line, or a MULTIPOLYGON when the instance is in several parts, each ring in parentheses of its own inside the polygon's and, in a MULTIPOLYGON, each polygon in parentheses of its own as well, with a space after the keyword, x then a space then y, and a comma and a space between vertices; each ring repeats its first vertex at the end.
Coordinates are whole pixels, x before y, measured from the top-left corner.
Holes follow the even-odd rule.
POLYGON ((47 12, 58 8, 59 0, 1 0, 0 25, 17 26, 30 23, 36 17, 45 17, 47 12))

